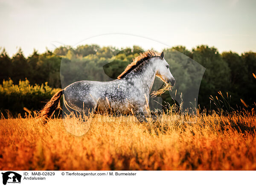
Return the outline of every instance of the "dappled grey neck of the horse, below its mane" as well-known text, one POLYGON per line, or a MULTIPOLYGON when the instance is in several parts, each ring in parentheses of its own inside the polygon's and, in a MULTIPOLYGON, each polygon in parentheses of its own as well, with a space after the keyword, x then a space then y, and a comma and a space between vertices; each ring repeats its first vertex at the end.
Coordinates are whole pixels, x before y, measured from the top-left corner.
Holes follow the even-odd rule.
POLYGON ((145 94, 149 95, 152 86, 154 84, 154 79, 156 76, 156 72, 154 66, 149 62, 142 67, 143 70, 138 70, 132 74, 131 77, 134 81, 134 85, 140 87, 140 89, 145 92, 145 94))

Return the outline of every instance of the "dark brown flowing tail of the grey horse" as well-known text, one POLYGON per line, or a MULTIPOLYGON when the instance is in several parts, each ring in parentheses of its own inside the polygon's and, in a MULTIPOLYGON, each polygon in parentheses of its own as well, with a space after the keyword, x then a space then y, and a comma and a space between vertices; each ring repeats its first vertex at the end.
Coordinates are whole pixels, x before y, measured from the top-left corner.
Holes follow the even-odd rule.
POLYGON ((37 118, 41 118, 44 124, 46 124, 49 121, 54 111, 58 107, 62 94, 64 94, 64 89, 55 93, 54 96, 52 96, 51 100, 47 102, 44 108, 40 111, 37 118))

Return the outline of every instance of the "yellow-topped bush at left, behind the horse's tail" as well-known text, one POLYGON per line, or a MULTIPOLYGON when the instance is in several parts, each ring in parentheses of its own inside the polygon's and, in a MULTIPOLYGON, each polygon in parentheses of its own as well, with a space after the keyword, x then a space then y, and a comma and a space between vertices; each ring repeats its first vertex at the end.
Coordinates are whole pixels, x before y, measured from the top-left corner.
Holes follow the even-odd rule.
POLYGON ((3 85, 0 85, 0 112, 6 117, 9 113, 25 116, 29 111, 39 111, 58 90, 49 87, 47 82, 41 86, 30 85, 26 79, 15 85, 11 79, 3 80, 3 85))

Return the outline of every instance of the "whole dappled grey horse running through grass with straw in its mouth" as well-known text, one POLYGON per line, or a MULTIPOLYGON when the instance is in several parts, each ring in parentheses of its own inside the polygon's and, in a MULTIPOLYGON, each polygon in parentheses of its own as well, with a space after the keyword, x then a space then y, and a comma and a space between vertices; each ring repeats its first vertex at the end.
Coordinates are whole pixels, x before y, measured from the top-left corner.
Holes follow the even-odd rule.
MULTIPOLYGON (((148 50, 134 58, 113 81, 77 81, 68 85, 52 96, 39 115, 46 123, 64 94, 64 106, 70 112, 74 110, 79 115, 88 116, 90 112, 103 114, 118 111, 122 114, 132 113, 139 122, 147 122, 147 105, 155 77, 160 78, 166 87, 175 84, 164 52, 148 50)), ((166 87, 159 92, 168 90, 166 87)))

